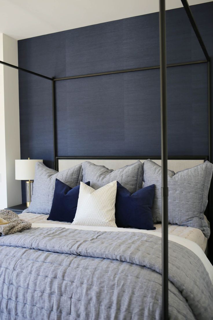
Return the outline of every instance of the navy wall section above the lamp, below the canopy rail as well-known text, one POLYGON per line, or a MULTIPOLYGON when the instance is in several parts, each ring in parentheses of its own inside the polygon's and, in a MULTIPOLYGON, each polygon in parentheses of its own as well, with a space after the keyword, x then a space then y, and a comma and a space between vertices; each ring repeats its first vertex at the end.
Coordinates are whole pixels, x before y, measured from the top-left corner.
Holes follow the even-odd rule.
POLYGON ((52 166, 51 81, 19 71, 21 157, 52 166))

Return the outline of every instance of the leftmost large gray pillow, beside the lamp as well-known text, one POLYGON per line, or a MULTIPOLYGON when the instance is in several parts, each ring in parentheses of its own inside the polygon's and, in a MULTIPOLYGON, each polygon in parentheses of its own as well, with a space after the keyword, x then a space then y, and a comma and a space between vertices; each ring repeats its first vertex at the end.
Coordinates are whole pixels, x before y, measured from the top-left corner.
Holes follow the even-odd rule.
POLYGON ((55 190, 56 178, 70 187, 76 187, 82 181, 82 167, 77 164, 72 168, 57 172, 46 167, 42 162, 35 165, 35 179, 32 201, 23 212, 49 214, 55 190))

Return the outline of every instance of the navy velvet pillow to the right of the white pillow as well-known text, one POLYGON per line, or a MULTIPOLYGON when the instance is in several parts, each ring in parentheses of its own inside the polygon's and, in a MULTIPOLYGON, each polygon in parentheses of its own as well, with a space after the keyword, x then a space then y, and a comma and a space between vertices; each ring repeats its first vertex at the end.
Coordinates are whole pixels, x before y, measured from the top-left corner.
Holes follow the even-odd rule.
POLYGON ((131 194, 117 181, 115 202, 117 227, 155 230, 151 211, 154 194, 154 184, 131 194))

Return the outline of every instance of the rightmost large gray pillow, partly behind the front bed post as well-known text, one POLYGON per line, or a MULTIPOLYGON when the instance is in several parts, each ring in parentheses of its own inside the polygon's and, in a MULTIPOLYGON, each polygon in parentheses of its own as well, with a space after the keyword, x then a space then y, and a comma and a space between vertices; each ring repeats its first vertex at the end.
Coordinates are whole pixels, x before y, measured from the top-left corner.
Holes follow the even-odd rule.
MULTIPOLYGON (((161 166, 148 159, 143 165, 143 187, 155 184, 152 206, 153 221, 161 222, 161 166)), ((168 170, 169 223, 198 228, 209 238, 210 230, 204 220, 213 164, 205 161, 196 167, 175 172, 168 170)))

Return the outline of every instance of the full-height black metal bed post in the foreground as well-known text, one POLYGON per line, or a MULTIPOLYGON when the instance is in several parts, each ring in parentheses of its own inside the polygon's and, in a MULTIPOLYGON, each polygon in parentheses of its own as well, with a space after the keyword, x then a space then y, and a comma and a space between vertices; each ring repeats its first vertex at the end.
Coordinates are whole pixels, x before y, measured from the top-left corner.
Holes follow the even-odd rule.
POLYGON ((166 11, 160 0, 160 81, 161 81, 161 159, 162 159, 162 319, 169 318, 168 294, 168 178, 167 178, 167 104, 166 104, 166 11))

